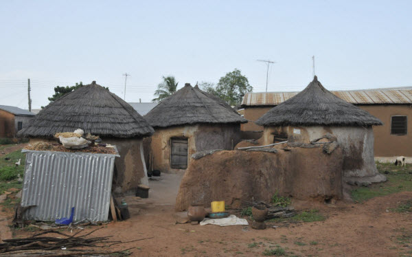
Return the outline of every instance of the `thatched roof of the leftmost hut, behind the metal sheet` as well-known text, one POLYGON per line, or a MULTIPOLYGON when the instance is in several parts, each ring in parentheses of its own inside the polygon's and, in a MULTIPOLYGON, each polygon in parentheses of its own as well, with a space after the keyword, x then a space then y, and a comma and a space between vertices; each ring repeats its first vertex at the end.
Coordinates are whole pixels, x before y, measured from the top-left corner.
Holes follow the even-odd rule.
POLYGON ((18 135, 52 137, 76 129, 101 137, 145 137, 154 133, 133 107, 93 81, 47 105, 18 135))

